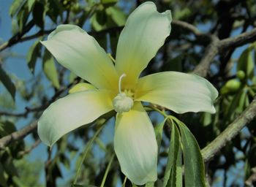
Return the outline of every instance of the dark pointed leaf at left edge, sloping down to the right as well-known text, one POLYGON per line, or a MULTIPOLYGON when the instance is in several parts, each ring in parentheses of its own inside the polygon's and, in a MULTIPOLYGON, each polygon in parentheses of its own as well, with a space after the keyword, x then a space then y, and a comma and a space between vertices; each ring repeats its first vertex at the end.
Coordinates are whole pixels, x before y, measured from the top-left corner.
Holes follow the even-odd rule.
POLYGON ((12 83, 12 80, 7 75, 7 73, 2 69, 0 65, 0 81, 4 84, 4 87, 7 88, 7 91, 11 94, 12 99, 15 100, 15 85, 12 83))

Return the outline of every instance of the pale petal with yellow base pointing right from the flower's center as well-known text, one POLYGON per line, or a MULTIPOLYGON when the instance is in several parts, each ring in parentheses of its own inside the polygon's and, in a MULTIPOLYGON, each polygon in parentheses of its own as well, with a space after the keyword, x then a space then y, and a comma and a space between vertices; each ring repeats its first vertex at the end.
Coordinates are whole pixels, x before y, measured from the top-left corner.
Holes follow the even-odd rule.
POLYGON ((136 99, 177 113, 215 112, 218 91, 208 80, 181 72, 161 72, 140 78, 136 99))

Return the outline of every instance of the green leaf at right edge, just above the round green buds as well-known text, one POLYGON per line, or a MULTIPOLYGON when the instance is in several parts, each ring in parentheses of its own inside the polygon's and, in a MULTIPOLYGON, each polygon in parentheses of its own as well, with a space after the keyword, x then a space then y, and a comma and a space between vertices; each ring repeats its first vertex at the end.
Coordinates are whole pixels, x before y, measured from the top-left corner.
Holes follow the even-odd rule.
POLYGON ((248 47, 238 58, 237 72, 244 71, 247 78, 254 77, 255 64, 252 57, 252 47, 248 47))

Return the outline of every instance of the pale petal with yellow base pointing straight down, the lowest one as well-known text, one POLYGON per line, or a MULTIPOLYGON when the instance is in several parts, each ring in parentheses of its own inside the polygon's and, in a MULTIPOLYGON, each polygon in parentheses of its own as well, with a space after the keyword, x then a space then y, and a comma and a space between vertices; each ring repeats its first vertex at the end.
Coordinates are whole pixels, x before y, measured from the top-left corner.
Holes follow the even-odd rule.
POLYGON ((157 180, 157 140, 140 102, 116 115, 114 148, 121 171, 137 185, 157 180))

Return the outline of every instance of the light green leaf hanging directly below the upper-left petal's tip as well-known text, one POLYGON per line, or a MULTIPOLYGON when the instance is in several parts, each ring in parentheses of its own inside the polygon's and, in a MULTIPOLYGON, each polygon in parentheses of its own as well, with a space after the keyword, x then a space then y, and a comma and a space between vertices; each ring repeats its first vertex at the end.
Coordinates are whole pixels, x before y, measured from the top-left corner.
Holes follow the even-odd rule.
POLYGON ((46 77, 48 77, 48 80, 50 80, 53 86, 59 89, 58 73, 56 71, 53 56, 49 53, 48 50, 45 50, 45 54, 42 58, 42 69, 44 70, 46 77))

